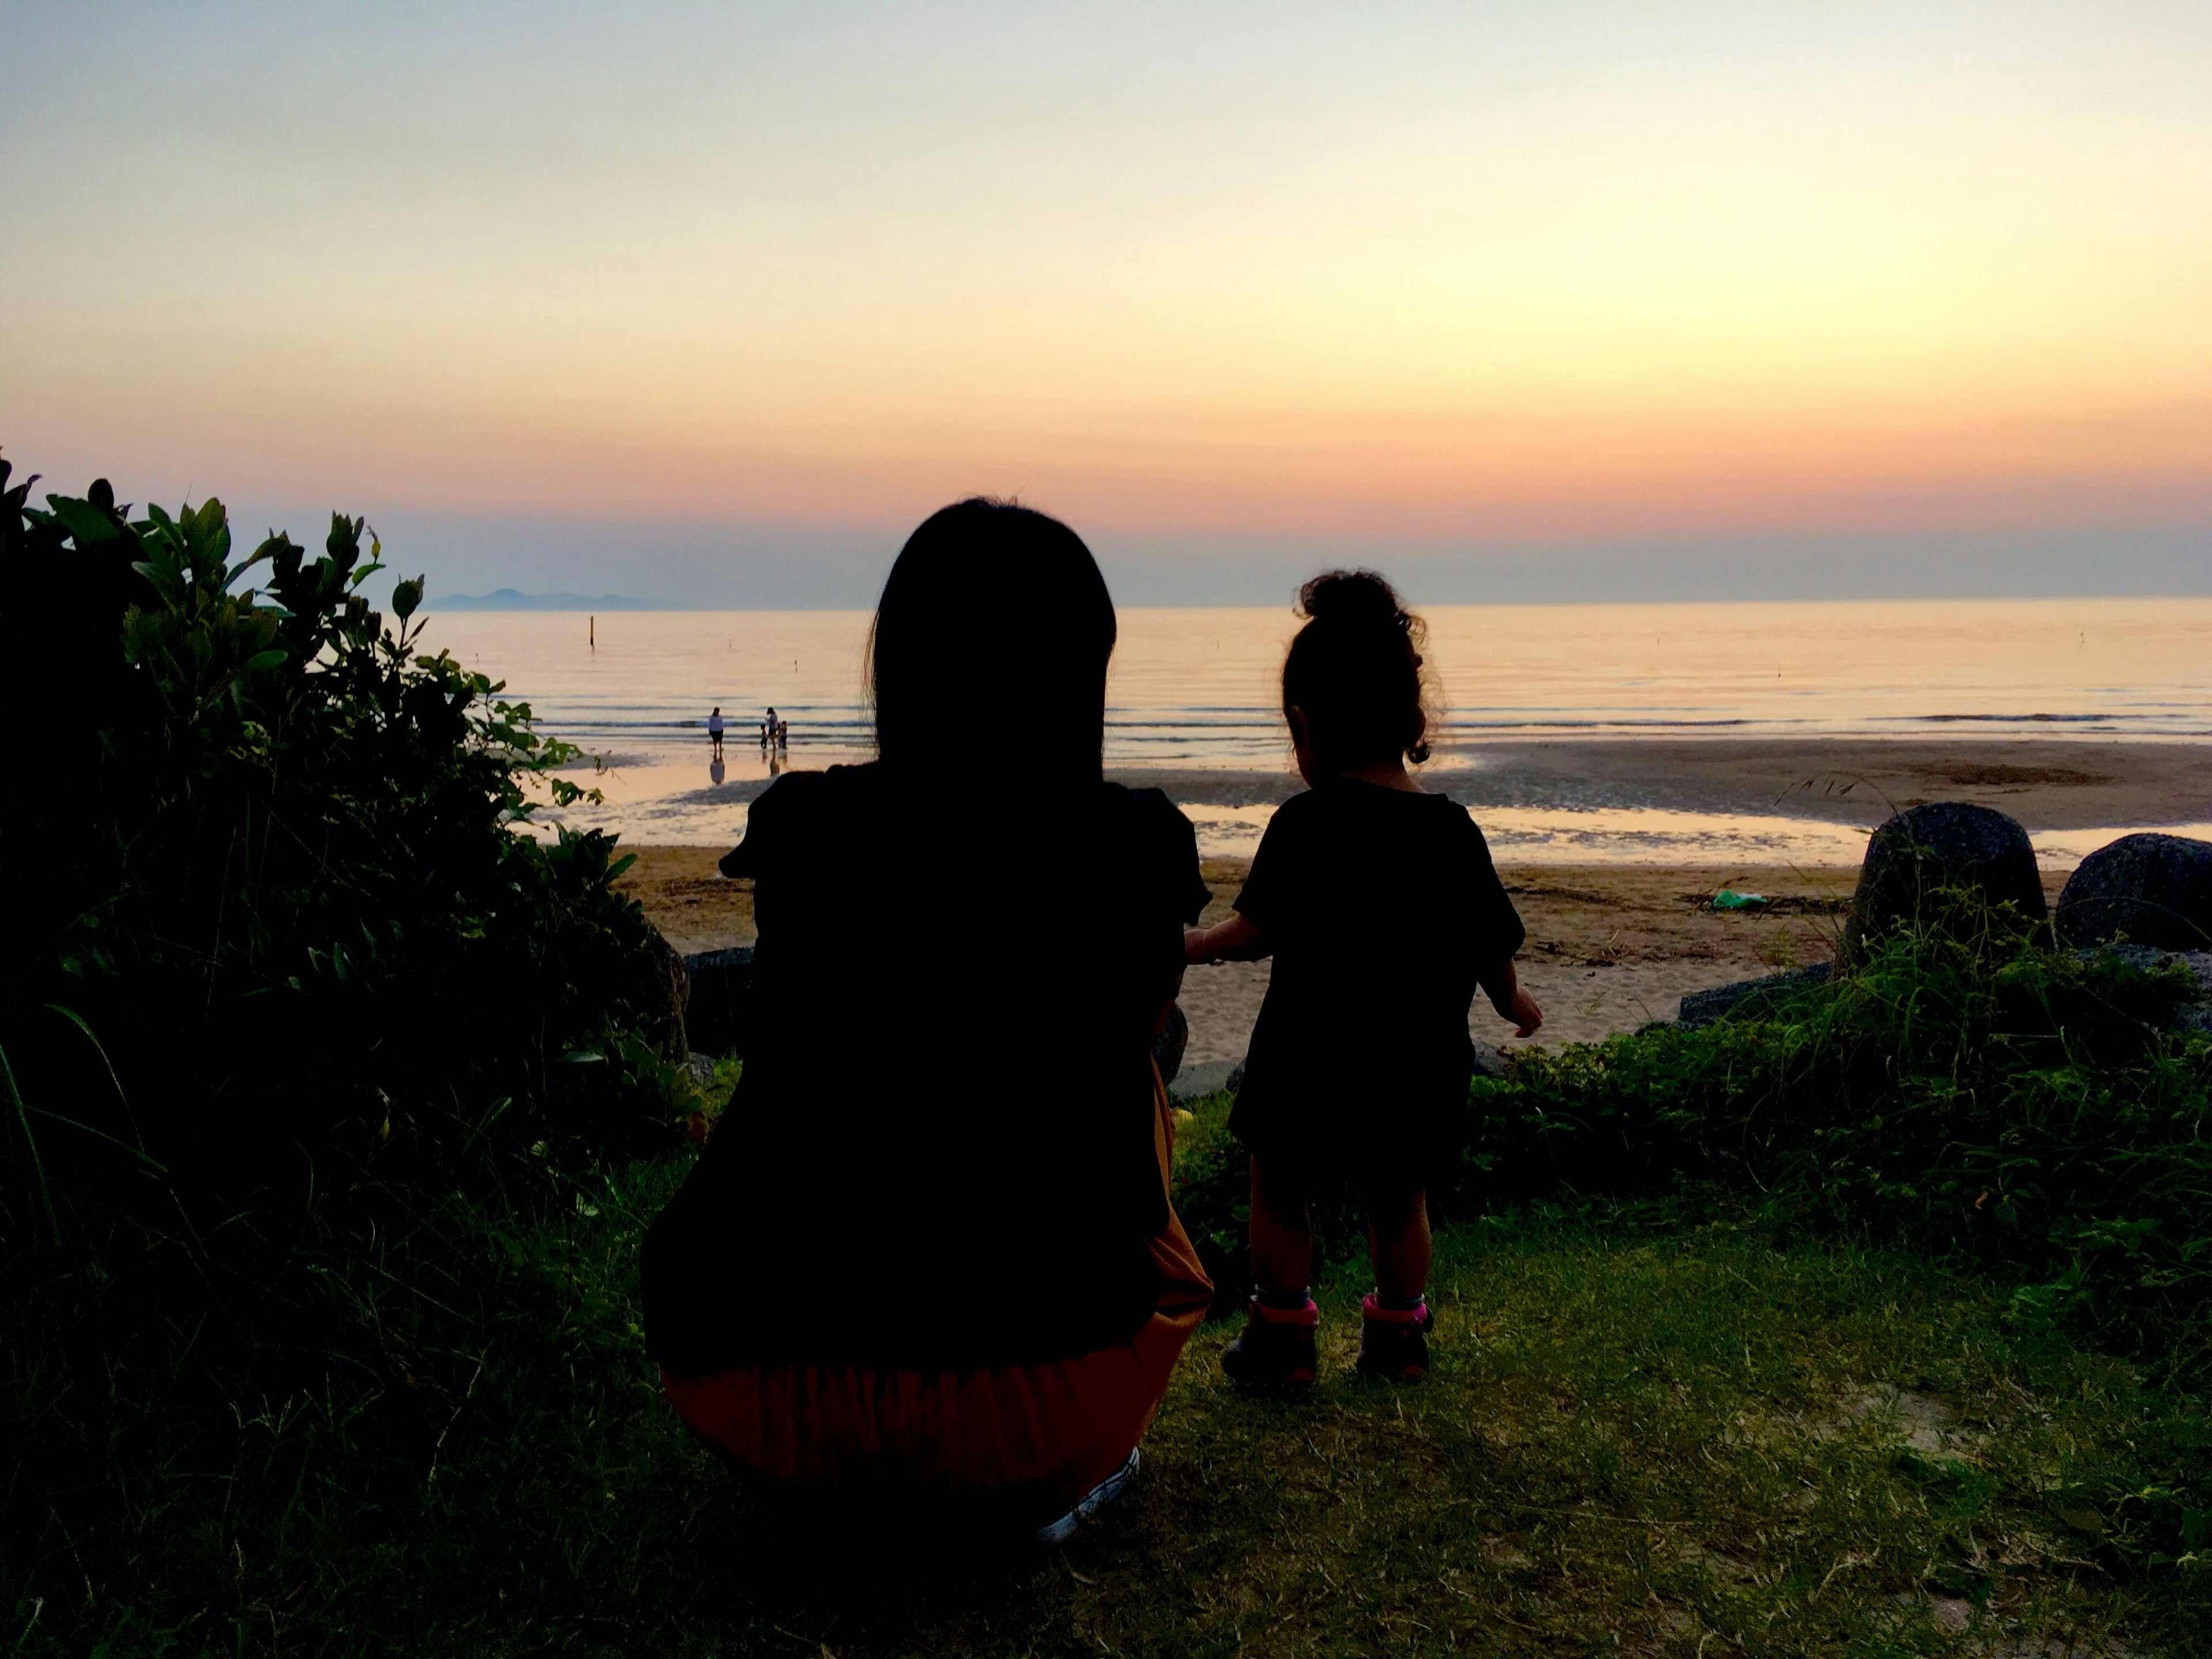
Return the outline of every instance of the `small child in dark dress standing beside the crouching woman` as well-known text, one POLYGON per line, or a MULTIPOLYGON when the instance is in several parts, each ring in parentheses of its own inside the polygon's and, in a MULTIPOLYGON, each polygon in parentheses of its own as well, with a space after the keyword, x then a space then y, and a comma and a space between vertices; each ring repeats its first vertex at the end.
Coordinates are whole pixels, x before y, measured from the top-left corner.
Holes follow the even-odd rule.
POLYGON ((1429 1369, 1429 1170, 1467 1102, 1467 1013, 1489 993, 1515 1035, 1544 1013, 1520 987, 1520 916, 1467 807, 1427 794, 1422 624, 1371 571, 1298 591, 1283 719, 1305 794, 1276 810, 1237 914, 1190 929, 1190 962, 1274 956, 1230 1128, 1252 1148, 1252 1290, 1223 1349, 1237 1383, 1312 1383, 1321 1310, 1310 1197, 1345 1172, 1367 1212, 1376 1287, 1358 1369, 1429 1369))

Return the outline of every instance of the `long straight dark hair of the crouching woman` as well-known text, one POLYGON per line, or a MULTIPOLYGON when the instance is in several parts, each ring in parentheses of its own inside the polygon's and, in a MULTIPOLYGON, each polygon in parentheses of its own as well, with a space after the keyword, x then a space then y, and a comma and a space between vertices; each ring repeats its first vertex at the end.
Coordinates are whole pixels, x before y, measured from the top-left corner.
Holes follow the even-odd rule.
POLYGON ((982 495, 938 509, 876 604, 876 752, 947 763, 975 743, 1033 779, 1097 781, 1113 646, 1113 597, 1075 531, 982 495))

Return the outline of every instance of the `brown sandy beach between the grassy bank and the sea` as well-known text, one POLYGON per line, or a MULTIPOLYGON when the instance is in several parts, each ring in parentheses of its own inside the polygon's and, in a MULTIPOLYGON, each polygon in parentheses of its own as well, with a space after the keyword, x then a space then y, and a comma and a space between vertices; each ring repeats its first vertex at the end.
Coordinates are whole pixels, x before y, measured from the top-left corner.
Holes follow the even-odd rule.
MULTIPOLYGON (((1491 743, 1471 770, 1438 774, 1478 816, 1486 805, 1672 807, 1705 814, 1772 814, 1871 825, 1920 801, 1978 801, 2031 832, 2199 825, 2212 818, 2212 745, 2015 741, 1555 741, 1491 743)), ((1117 772, 1186 805, 1274 805, 1292 796, 1290 772, 1117 772)), ((2088 836, 2084 849, 2095 845, 2088 836)), ((1849 843, 1838 843, 1849 845, 1849 843)), ((723 880, 723 847, 639 847, 624 876, 648 918, 681 951, 752 940, 750 883, 723 880)), ((1018 854, 1015 854, 1018 856, 1018 854)), ((1575 1042, 1672 1018, 1688 991, 1816 962, 1832 953, 1856 880, 1854 863, 1515 863, 1500 852, 1528 945, 1524 982, 1544 1006, 1535 1042, 1575 1042), (1714 911, 1721 887, 1772 900, 1754 911, 1714 911)), ((1237 858, 1210 858, 1214 900, 1228 914, 1243 880, 1237 858)), ((2057 896, 2066 867, 2044 872, 2057 896)), ((1267 964, 1192 969, 1188 1064, 1243 1055, 1267 989, 1267 964)), ((1473 1031, 1513 1046, 1511 1031, 1475 1004, 1473 1031)))

